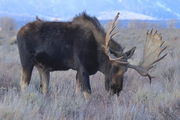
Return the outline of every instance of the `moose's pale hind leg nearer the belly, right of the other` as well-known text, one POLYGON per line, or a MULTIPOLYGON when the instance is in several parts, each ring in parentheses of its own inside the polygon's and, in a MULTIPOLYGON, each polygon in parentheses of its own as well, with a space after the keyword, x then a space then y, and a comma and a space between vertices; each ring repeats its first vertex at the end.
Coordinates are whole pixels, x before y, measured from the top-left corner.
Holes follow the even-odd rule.
POLYGON ((37 67, 37 69, 40 75, 40 90, 43 94, 47 94, 49 87, 50 72, 40 67, 37 67))

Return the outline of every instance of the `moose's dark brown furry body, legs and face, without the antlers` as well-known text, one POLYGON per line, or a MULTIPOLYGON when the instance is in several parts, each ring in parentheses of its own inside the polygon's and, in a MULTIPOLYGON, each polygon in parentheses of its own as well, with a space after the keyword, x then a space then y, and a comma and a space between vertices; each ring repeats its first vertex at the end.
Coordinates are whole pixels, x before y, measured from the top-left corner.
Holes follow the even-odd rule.
MULTIPOLYGON (((103 48, 104 39, 105 32, 99 21, 85 13, 71 22, 38 19, 28 23, 17 35, 22 65, 21 89, 28 86, 35 66, 40 73, 43 93, 48 91, 51 71, 73 69, 77 71, 77 89, 83 91, 85 97, 91 93, 89 76, 97 71, 105 75, 106 90, 119 94, 127 67, 109 60, 103 48)), ((121 46, 113 44, 121 50, 121 46)))

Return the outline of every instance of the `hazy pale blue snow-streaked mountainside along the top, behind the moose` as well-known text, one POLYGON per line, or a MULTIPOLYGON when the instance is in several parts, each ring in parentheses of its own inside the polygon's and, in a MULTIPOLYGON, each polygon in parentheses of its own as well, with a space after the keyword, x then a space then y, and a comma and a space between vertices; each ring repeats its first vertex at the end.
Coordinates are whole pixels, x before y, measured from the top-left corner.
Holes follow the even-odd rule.
POLYGON ((100 17, 125 11, 133 16, 180 19, 179 5, 180 0, 0 0, 0 15, 68 19, 82 11, 100 17))

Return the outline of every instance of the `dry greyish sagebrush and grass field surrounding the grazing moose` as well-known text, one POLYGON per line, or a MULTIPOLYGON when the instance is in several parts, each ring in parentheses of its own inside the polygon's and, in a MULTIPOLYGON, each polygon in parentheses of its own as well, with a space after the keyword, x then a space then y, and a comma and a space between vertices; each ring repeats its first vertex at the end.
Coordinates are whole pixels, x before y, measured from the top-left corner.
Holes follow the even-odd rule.
MULTIPOLYGON (((142 57, 146 29, 122 29, 116 41, 125 50, 137 46, 131 63, 142 57)), ((180 30, 159 29, 168 55, 151 71, 149 84, 129 69, 120 96, 109 96, 102 73, 90 77, 92 95, 86 102, 75 93, 73 70, 51 73, 50 92, 39 92, 39 75, 34 69, 30 86, 19 90, 20 61, 17 45, 0 45, 0 120, 180 120, 180 30)), ((8 39, 7 39, 8 41, 8 39)))

